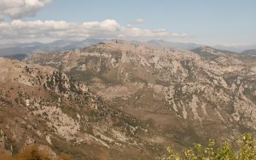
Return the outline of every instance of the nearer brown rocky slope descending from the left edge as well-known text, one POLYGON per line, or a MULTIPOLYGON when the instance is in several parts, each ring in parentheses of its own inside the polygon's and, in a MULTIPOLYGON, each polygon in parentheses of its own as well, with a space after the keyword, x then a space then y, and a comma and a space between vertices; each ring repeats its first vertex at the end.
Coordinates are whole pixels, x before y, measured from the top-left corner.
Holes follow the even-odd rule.
POLYGON ((64 72, 0 58, 0 150, 37 143, 75 159, 148 158, 160 151, 150 130, 64 72))

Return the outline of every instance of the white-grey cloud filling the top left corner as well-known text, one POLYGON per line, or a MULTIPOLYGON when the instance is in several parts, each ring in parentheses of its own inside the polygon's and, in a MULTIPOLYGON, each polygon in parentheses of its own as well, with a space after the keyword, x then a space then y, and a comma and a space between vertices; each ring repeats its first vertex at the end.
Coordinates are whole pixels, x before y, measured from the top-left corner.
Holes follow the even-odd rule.
POLYGON ((20 19, 24 16, 33 16, 39 9, 53 0, 0 0, 0 19, 9 16, 11 19, 20 19))

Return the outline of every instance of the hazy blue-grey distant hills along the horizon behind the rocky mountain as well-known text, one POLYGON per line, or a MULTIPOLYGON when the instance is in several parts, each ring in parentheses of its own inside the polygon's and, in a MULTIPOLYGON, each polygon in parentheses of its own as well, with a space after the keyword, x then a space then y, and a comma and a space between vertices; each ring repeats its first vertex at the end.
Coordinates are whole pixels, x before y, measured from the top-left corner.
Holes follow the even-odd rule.
MULTIPOLYGON (((90 45, 101 43, 106 39, 85 39, 83 41, 58 40, 52 43, 7 43, 0 44, 0 56, 14 54, 35 54, 35 53, 54 53, 70 49, 82 49, 90 45)), ((134 42, 139 43, 139 42, 134 42)), ((165 40, 150 40, 144 42, 148 47, 164 47, 177 50, 192 50, 200 48, 203 45, 197 43, 174 43, 165 40)), ((212 46, 215 49, 228 50, 231 52, 241 53, 245 50, 256 49, 256 44, 227 47, 223 45, 212 46)))

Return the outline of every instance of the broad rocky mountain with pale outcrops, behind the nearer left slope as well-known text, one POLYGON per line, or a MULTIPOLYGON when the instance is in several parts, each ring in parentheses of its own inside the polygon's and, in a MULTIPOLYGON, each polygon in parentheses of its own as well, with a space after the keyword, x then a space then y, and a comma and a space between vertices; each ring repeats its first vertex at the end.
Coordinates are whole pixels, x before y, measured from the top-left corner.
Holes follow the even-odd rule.
POLYGON ((109 41, 29 63, 87 83, 106 103, 157 130, 145 140, 181 146, 256 129, 256 58, 201 47, 193 51, 109 41), (218 132, 217 132, 218 131, 218 132))

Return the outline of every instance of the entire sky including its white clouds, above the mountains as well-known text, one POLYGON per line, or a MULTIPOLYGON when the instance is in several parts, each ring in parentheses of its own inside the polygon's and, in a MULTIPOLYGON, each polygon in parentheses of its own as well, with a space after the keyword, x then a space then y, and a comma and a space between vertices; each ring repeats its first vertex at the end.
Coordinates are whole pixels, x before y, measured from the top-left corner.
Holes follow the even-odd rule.
POLYGON ((256 43, 256 1, 0 0, 0 43, 85 38, 256 43))

